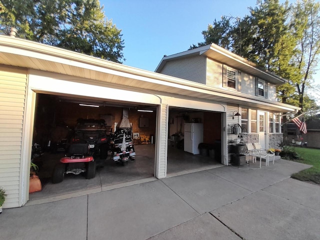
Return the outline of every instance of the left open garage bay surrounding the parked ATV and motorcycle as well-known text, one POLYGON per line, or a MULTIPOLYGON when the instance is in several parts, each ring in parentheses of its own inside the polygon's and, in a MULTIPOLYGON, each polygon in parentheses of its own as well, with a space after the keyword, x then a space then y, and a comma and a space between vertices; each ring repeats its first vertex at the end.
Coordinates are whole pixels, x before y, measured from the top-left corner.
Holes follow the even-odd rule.
POLYGON ((37 93, 32 162, 38 166, 37 175, 42 190, 30 193, 29 199, 94 191, 117 183, 153 177, 155 129, 156 106, 153 105, 37 93), (103 119, 110 138, 116 129, 123 126, 121 123, 127 121, 131 127, 135 158, 123 166, 112 159, 111 148, 108 148, 106 158, 104 153, 94 152, 95 177, 86 179, 85 172, 78 175, 70 173, 64 174, 62 182, 53 184, 54 166, 72 144, 74 127, 79 118, 103 119))

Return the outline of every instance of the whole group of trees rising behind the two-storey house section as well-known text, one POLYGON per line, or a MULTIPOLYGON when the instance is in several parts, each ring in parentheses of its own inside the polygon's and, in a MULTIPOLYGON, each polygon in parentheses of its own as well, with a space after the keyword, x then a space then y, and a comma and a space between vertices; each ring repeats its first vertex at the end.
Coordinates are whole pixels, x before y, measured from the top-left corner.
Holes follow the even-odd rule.
MULTIPOLYGON (((288 79, 277 87, 279 101, 310 112, 315 101, 305 94, 312 89, 312 74, 320 53, 320 3, 315 0, 257 0, 244 17, 222 16, 202 31, 203 42, 215 43, 264 69, 288 79)), ((317 108, 318 109, 318 108, 317 108)))

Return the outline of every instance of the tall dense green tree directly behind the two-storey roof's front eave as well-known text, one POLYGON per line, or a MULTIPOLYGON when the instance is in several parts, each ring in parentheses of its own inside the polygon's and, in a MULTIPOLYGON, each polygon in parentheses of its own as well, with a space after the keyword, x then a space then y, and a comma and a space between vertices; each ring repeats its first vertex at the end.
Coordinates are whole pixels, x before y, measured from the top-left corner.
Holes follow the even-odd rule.
POLYGON ((249 7, 249 11, 250 15, 243 20, 250 28, 247 33, 242 31, 241 37, 246 39, 243 42, 245 45, 251 43, 251 46, 242 55, 257 65, 274 71, 273 68, 277 65, 274 62, 279 59, 279 44, 288 40, 288 27, 285 24, 289 12, 288 2, 280 4, 279 0, 258 0, 257 6, 249 7))

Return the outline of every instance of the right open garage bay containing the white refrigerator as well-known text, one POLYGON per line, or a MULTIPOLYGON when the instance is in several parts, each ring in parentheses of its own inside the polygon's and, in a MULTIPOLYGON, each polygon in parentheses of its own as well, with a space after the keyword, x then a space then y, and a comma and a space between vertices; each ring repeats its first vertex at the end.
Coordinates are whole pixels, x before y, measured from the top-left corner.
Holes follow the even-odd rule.
POLYGON ((169 108, 167 175, 222 165, 222 113, 169 108))

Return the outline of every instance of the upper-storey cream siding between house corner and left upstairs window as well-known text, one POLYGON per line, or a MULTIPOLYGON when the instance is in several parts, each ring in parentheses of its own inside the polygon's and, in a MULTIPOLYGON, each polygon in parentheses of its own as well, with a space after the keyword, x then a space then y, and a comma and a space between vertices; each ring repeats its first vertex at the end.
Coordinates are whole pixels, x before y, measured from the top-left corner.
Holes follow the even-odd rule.
POLYGON ((207 58, 206 65, 206 85, 222 87, 222 64, 207 58))

